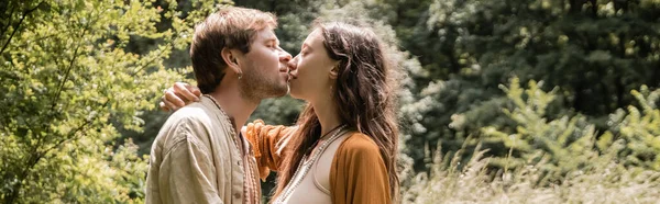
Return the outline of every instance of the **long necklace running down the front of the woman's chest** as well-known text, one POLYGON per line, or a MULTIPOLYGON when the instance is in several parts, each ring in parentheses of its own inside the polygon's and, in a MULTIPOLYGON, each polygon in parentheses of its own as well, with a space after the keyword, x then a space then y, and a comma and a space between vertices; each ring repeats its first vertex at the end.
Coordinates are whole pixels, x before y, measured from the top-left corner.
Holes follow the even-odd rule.
MULTIPOLYGON (((326 148, 328 146, 330 146, 330 144, 332 144, 332 141, 337 140, 339 138, 339 136, 342 136, 343 133, 345 133, 343 131, 344 127, 346 127, 345 124, 337 127, 336 129, 338 129, 338 131, 334 132, 334 134, 330 138, 328 138, 328 140, 324 140, 318 147, 318 149, 315 151, 314 155, 310 155, 310 159, 307 159, 307 156, 302 157, 302 160, 299 162, 298 168, 296 169, 296 173, 294 173, 294 177, 292 177, 292 181, 284 188, 284 191, 283 191, 284 193, 282 193, 280 196, 275 199, 275 202, 273 202, 273 203, 279 204, 279 203, 284 203, 284 201, 288 200, 288 197, 292 195, 294 190, 300 184, 300 182, 302 182, 302 179, 305 178, 307 172, 309 172, 309 169, 311 169, 311 166, 314 165, 314 162, 316 162, 319 158, 321 158, 321 155, 323 155, 323 150, 326 150, 326 148)), ((332 133, 332 131, 329 133, 332 133)))

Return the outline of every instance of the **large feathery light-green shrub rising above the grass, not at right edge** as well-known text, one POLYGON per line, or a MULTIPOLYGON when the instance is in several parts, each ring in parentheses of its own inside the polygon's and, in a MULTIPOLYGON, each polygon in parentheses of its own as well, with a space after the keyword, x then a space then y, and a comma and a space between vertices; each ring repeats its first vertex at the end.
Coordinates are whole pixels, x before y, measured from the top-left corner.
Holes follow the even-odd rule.
POLYGON ((543 170, 547 178, 557 180, 570 171, 587 168, 598 152, 594 149, 595 128, 585 124, 583 116, 562 116, 549 120, 546 110, 558 89, 544 92, 540 84, 529 82, 528 89, 520 88, 519 79, 513 78, 508 88, 502 87, 514 104, 504 113, 517 123, 513 133, 484 127, 486 140, 501 141, 510 149, 506 158, 495 158, 493 163, 501 168, 519 168, 529 160, 547 159, 543 170), (488 136, 491 138, 488 138, 488 136))

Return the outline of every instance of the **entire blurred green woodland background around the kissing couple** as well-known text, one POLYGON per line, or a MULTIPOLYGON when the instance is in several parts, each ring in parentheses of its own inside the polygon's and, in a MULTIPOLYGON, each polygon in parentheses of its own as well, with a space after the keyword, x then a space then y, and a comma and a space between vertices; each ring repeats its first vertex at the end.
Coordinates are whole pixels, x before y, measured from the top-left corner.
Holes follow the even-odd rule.
MULTIPOLYGON (((366 22, 400 70, 400 203, 657 203, 660 0, 0 2, 0 201, 142 203, 193 27, 221 7, 366 22)), ((292 125, 304 102, 252 120, 292 125)), ((274 173, 263 183, 270 200, 274 173)))

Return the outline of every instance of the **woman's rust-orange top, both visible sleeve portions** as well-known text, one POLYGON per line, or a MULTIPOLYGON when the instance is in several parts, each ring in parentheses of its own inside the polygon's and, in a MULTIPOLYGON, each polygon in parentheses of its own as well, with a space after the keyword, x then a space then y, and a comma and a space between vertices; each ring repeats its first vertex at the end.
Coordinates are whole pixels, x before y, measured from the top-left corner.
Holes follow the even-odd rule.
MULTIPOLYGON (((265 125, 257 120, 248 124, 245 137, 254 148, 260 177, 265 179, 270 171, 277 171, 287 157, 289 137, 295 137, 296 127, 265 125)), ((339 146, 330 170, 332 203, 392 203, 389 177, 378 146, 361 133, 351 133, 339 146)), ((394 173, 394 172, 392 172, 394 173)))

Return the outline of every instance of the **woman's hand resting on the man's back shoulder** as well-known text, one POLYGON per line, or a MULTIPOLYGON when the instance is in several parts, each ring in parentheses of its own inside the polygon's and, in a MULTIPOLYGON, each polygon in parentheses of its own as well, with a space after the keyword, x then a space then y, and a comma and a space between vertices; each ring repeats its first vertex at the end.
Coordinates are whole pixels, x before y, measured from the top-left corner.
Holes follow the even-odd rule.
POLYGON ((185 82, 176 82, 163 92, 160 106, 163 111, 176 111, 199 101, 199 97, 201 97, 199 88, 185 82))

